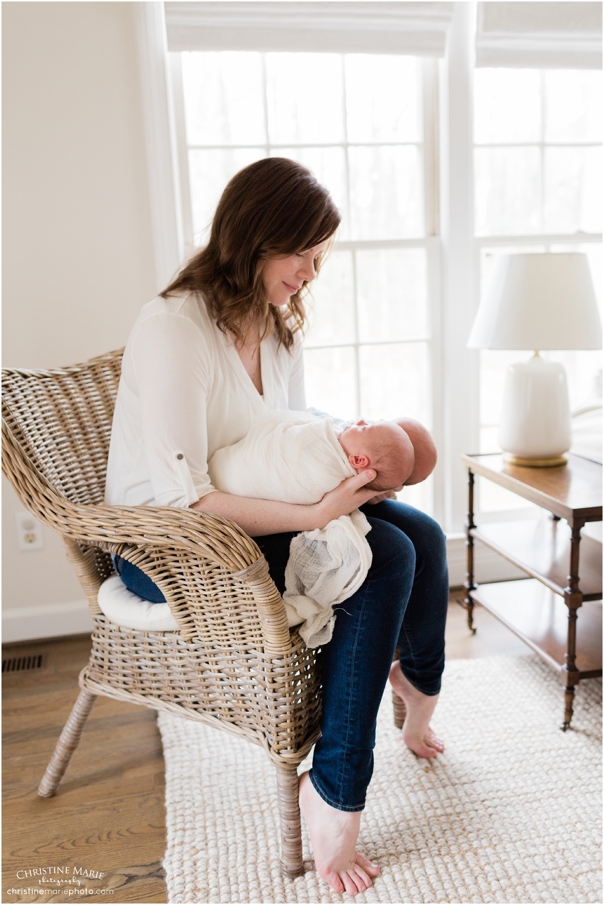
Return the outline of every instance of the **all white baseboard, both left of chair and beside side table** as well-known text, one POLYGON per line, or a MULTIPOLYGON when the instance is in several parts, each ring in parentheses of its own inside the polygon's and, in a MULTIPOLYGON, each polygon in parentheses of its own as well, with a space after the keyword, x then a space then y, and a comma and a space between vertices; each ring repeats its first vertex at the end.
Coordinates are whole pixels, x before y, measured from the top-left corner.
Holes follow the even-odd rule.
MULTIPOLYGON (((452 587, 463 585, 466 580, 465 535, 449 535, 447 538, 448 582, 452 587)), ((506 559, 479 541, 474 545, 474 561, 477 582, 505 581, 524 578, 525 573, 512 566, 506 559)), ((70 604, 48 606, 24 606, 6 609, 2 614, 2 639, 5 643, 33 641, 36 638, 54 638, 61 635, 83 634, 92 631, 92 617, 86 600, 70 604)))

